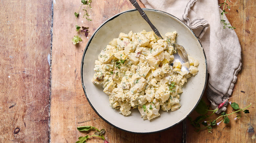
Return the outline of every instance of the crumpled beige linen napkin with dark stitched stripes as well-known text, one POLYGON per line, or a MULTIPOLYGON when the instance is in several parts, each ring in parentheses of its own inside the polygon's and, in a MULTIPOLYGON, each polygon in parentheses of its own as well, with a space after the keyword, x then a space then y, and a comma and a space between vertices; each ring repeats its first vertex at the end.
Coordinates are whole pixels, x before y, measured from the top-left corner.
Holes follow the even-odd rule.
MULTIPOLYGON (((207 58, 207 98, 216 109, 233 91, 241 70, 241 46, 234 30, 223 28, 218 0, 141 0, 146 8, 168 12, 187 24, 196 34, 207 58)), ((228 22, 224 15, 224 20, 228 22)), ((224 106, 216 113, 226 110, 224 106)))

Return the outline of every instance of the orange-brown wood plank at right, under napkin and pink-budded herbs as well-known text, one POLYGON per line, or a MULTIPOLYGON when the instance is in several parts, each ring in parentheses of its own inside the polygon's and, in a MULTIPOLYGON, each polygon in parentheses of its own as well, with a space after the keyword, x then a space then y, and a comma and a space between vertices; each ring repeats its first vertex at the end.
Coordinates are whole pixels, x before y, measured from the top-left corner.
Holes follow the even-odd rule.
MULTIPOLYGON (((223 0, 219 0, 219 3, 223 0)), ((249 107, 250 114, 243 114, 242 118, 234 120, 236 115, 229 116, 229 124, 221 123, 213 128, 213 133, 207 133, 207 130, 199 133, 193 131, 194 128, 188 124, 187 142, 232 142, 232 143, 255 143, 255 80, 256 80, 256 50, 255 50, 255 2, 249 0, 235 0, 228 3, 231 10, 226 14, 232 26, 235 26, 237 36, 242 48, 242 70, 237 75, 237 82, 233 89, 232 96, 236 96, 229 101, 236 102, 240 108, 244 108, 252 103, 249 107)), ((205 99, 206 101, 206 99, 205 99)), ((209 104, 209 103, 208 103, 209 104)), ((230 105, 227 107, 227 113, 231 113, 230 105)), ((193 112, 192 117, 197 113, 193 112)), ((217 118, 217 116, 213 116, 217 118)))

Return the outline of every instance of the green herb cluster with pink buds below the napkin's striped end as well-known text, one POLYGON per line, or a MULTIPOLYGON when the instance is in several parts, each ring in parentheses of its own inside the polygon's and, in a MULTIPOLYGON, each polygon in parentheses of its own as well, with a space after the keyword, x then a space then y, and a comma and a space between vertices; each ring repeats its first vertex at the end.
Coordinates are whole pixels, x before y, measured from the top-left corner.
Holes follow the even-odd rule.
MULTIPOLYGON (((225 103, 225 102, 224 102, 225 103)), ((196 107, 196 111, 201 114, 201 116, 198 116, 196 119, 192 119, 191 117, 188 117, 188 119, 190 120, 190 123, 192 126, 194 126, 196 128, 195 131, 200 131, 200 130, 204 130, 204 129, 207 129, 208 133, 212 133, 212 126, 215 126, 215 125, 219 125, 221 122, 224 122, 225 124, 228 124, 230 119, 228 118, 229 115, 232 115, 234 113, 237 113, 237 112, 240 112, 239 115, 236 116, 236 118, 234 118, 234 120, 236 119, 240 119, 242 117, 242 112, 243 111, 245 114, 248 114, 249 113, 249 110, 247 110, 246 108, 250 107, 251 106, 251 103, 250 105, 248 105, 247 107, 245 108, 240 108, 239 105, 235 102, 231 103, 230 104, 231 107, 236 110, 232 113, 229 113, 229 114, 226 114, 226 112, 222 112, 221 115, 216 118, 216 119, 210 119, 210 117, 216 113, 221 107, 218 107, 217 109, 215 110, 208 110, 208 107, 206 105, 205 102, 203 102, 202 100, 200 101, 200 103, 198 104, 198 106, 196 107), (210 115, 205 115, 208 113, 208 111, 212 111, 212 114, 210 115), (220 120, 218 123, 217 123, 217 120, 222 118, 222 120, 220 120), (205 121, 205 119, 208 119, 207 121, 205 121), (203 121, 204 120, 204 121, 203 121), (201 126, 203 125, 203 127, 201 126)))

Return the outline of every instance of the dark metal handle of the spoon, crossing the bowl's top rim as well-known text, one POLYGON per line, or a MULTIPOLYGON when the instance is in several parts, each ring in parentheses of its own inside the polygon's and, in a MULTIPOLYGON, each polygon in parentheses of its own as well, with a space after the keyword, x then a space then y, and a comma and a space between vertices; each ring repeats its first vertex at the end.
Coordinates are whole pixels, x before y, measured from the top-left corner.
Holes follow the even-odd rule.
POLYGON ((130 0, 130 2, 133 4, 133 6, 139 11, 140 15, 146 20, 146 22, 150 25, 150 27, 153 29, 153 31, 156 33, 156 35, 160 38, 163 39, 157 28, 150 22, 148 19, 148 16, 146 13, 140 8, 139 4, 137 3, 136 0, 130 0))

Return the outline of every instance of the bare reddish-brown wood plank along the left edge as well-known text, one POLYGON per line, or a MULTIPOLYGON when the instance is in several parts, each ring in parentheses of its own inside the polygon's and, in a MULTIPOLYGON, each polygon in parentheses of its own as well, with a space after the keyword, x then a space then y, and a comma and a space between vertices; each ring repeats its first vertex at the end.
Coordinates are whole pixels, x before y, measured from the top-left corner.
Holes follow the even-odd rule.
POLYGON ((0 5, 0 142, 49 142, 52 3, 0 5))

